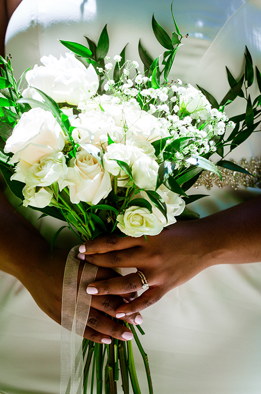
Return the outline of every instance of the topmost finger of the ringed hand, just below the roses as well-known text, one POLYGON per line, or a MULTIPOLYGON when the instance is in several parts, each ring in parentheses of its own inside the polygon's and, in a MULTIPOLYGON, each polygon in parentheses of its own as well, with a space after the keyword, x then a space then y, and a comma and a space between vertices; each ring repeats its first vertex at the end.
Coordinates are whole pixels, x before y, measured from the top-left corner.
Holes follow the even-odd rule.
POLYGON ((86 241, 79 247, 79 252, 86 255, 93 255, 95 253, 107 253, 113 250, 129 249, 135 246, 140 246, 144 242, 143 237, 118 237, 115 234, 110 234, 98 237, 93 241, 86 241))

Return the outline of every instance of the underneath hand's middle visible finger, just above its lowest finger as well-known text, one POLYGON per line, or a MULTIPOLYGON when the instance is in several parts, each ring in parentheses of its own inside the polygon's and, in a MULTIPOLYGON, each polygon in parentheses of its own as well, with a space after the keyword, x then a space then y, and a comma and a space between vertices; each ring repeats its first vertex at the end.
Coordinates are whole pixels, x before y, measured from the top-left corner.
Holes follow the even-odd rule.
POLYGON ((87 326, 104 334, 102 338, 112 336, 123 341, 133 338, 133 334, 129 328, 114 322, 94 308, 90 308, 87 326))

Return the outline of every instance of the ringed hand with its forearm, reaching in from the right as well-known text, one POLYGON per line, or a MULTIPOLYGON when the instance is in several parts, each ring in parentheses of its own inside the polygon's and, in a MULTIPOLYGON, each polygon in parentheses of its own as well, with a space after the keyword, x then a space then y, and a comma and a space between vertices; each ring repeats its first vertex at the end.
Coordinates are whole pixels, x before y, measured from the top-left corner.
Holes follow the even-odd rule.
MULTIPOLYGON (((261 197, 203 219, 178 222, 159 235, 100 237, 80 247, 78 258, 98 266, 135 267, 145 275, 149 289, 121 305, 116 316, 124 318, 157 302, 164 294, 203 269, 222 263, 261 261, 261 197)), ((122 295, 142 288, 140 277, 93 282, 93 295, 122 295)))

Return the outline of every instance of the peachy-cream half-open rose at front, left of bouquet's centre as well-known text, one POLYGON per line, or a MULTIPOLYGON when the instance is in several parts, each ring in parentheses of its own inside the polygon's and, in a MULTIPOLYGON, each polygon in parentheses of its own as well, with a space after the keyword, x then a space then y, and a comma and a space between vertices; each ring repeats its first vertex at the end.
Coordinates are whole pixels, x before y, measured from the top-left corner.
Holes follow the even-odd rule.
POLYGON ((84 150, 76 153, 76 158, 71 160, 67 184, 70 200, 74 204, 85 201, 96 205, 111 191, 109 173, 104 171, 95 157, 84 150))

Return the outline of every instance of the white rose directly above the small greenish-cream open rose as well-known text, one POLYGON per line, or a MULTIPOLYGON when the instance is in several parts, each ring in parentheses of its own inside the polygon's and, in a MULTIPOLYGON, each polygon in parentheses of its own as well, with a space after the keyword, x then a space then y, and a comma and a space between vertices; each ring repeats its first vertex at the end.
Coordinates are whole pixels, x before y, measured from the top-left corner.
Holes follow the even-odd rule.
POLYGON ((159 164, 147 155, 140 156, 131 167, 134 183, 140 189, 155 190, 159 164))

